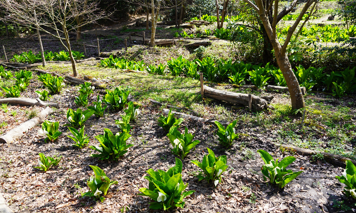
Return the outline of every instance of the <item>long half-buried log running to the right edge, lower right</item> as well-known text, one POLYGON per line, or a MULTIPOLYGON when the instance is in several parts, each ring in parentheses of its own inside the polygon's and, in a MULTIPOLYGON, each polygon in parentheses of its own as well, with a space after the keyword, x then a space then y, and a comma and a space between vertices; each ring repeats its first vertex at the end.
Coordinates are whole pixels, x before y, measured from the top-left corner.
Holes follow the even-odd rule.
MULTIPOLYGON (((346 165, 346 160, 351 160, 349 158, 342 157, 341 155, 338 155, 338 154, 331 154, 328 152, 319 152, 319 151, 314 151, 311 149, 304 149, 304 148, 289 146, 289 145, 280 144, 280 143, 275 143, 275 144, 276 144, 276 146, 281 146, 285 149, 295 151, 300 155, 314 155, 317 153, 321 153, 324 155, 324 160, 326 160, 327 162, 329 162, 330 164, 333 164, 333 165, 338 165, 338 166, 346 165)), ((356 165, 356 160, 351 160, 351 162, 356 165)))

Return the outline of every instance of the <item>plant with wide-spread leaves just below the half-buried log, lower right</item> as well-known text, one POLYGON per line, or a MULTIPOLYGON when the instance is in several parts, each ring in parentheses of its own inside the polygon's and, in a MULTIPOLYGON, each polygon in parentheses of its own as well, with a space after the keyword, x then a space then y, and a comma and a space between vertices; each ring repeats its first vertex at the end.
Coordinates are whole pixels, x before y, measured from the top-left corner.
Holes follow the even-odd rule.
POLYGON ((297 178, 298 175, 303 172, 293 172, 290 169, 286 169, 289 164, 294 162, 295 158, 293 156, 285 157, 278 163, 278 158, 274 160, 268 152, 262 149, 259 149, 257 153, 261 155, 261 158, 265 162, 265 165, 261 168, 262 174, 264 175, 263 179, 266 181, 267 177, 271 184, 277 184, 280 189, 286 186, 290 181, 297 178))

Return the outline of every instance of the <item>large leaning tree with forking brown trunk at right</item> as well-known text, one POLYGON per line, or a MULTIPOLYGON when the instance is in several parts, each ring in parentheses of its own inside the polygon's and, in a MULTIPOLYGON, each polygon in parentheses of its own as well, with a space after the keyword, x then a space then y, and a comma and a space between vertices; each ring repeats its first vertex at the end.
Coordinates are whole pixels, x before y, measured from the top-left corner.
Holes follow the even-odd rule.
MULTIPOLYGON (((290 99, 292 101, 292 108, 293 109, 304 108, 305 104, 304 104, 303 94, 300 89, 297 77, 295 77, 294 72, 292 70, 292 66, 290 65, 290 62, 288 60, 286 49, 290 42, 290 39, 292 38, 295 29, 298 27, 298 24, 302 20, 303 15, 307 12, 309 7, 311 7, 313 4, 318 3, 318 0, 307 0, 307 2, 305 2, 303 9, 302 11, 300 11, 297 20, 289 28, 287 37, 282 45, 279 43, 277 37, 276 26, 277 26, 277 21, 281 20, 282 17, 286 15, 286 10, 289 10, 289 8, 288 7, 284 8, 281 12, 278 13, 279 0, 255 0, 255 4, 250 0, 244 0, 244 1, 247 2, 247 4, 250 5, 260 16, 263 27, 274 49, 274 55, 276 56, 279 69, 281 69, 283 76, 286 79, 287 86, 290 93, 290 99)), ((294 0, 291 5, 294 6, 295 5, 294 3, 296 4, 297 0, 294 0)))

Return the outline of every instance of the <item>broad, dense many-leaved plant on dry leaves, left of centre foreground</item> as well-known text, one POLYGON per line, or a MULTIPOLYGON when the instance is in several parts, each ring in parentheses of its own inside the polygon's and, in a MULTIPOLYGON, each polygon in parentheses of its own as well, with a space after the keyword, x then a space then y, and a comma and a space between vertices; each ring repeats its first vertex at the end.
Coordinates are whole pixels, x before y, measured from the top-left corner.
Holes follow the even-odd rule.
POLYGON ((104 135, 95 136, 99 141, 99 146, 90 146, 100 154, 92 154, 92 157, 98 157, 100 160, 113 160, 117 161, 122 155, 127 152, 127 148, 133 146, 126 144, 127 139, 131 135, 126 132, 116 133, 113 135, 109 129, 104 129, 104 135))

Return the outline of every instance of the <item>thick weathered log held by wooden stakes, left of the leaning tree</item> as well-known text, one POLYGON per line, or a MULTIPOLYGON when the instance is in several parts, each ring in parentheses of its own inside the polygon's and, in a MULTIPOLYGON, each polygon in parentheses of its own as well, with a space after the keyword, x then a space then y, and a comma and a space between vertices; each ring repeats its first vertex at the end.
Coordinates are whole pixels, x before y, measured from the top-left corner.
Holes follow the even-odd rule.
MULTIPOLYGON (((204 85, 204 96, 217 100, 223 100, 233 104, 242 104, 248 106, 248 94, 244 93, 226 92, 218 89, 213 89, 204 85)), ((255 108, 256 110, 263 110, 268 108, 267 100, 256 95, 251 96, 253 108, 255 108)))

